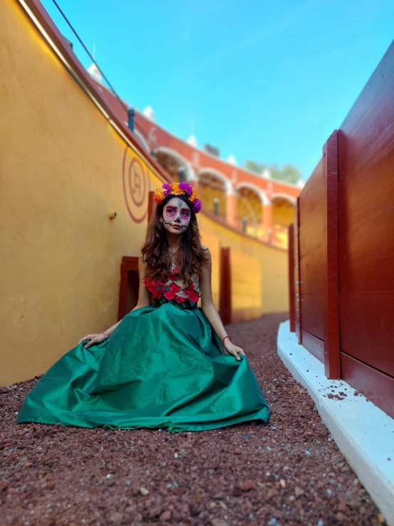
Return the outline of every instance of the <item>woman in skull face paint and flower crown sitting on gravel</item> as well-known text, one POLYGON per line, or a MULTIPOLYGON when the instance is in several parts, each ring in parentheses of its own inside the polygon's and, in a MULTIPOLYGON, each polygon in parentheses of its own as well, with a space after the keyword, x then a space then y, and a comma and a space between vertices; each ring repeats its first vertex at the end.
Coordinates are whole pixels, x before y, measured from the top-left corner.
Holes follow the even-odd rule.
POLYGON ((18 423, 176 432, 267 422, 255 374, 213 305, 196 191, 164 184, 154 199, 136 307, 61 357, 26 396, 18 423))

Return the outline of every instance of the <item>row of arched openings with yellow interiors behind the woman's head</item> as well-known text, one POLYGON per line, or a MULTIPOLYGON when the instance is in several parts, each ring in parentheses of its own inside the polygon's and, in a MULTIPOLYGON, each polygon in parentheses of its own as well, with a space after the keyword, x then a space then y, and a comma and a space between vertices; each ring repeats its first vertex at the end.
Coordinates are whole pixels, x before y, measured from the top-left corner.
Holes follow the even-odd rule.
MULTIPOLYGON (((173 181, 179 181, 180 169, 184 169, 187 180, 188 167, 170 152, 157 150, 156 161, 169 173, 173 181)), ((268 241, 277 246, 287 247, 287 226, 294 221, 294 204, 285 196, 275 196, 264 204, 262 194, 248 186, 240 186, 228 193, 224 177, 218 177, 210 170, 201 170, 197 180, 198 196, 203 206, 235 228, 268 241)))

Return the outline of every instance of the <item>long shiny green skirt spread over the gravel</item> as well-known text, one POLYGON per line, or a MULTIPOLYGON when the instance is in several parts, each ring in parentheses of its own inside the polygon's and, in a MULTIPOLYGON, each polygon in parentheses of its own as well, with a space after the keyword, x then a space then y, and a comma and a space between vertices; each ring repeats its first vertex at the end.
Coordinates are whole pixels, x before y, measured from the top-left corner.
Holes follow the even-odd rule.
POLYGON ((203 431, 267 422, 247 358, 223 354, 195 305, 129 312, 107 341, 64 354, 28 393, 18 424, 203 431))

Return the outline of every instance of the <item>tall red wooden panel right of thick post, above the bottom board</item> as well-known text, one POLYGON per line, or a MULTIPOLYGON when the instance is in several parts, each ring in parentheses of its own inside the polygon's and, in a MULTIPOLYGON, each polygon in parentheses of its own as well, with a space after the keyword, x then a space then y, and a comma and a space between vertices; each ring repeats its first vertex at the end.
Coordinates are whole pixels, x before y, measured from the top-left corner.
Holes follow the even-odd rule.
POLYGON ((394 377, 393 93, 394 44, 339 130, 341 351, 390 377, 394 377))

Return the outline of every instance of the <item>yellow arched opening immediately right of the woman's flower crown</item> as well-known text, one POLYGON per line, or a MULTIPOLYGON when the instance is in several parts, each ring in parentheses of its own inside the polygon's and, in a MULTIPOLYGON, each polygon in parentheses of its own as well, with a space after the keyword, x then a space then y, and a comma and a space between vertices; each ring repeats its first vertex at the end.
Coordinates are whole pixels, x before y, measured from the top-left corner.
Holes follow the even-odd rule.
POLYGON ((225 177, 213 170, 204 169, 198 172, 198 196, 203 201, 204 208, 220 219, 226 218, 225 177))

